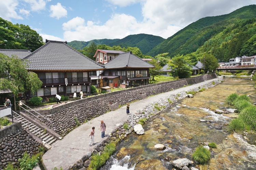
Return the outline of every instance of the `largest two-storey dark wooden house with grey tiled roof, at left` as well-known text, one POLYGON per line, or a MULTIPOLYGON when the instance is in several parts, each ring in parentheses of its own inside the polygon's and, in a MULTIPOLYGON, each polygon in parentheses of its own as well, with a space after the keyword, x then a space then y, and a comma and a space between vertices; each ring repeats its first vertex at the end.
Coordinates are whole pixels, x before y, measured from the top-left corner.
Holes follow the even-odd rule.
POLYGON ((67 42, 46 40, 45 45, 29 54, 28 71, 38 74, 42 87, 29 97, 40 96, 43 99, 59 95, 73 95, 80 90, 90 93, 89 72, 103 70, 104 67, 75 49, 67 42))

